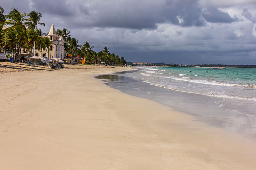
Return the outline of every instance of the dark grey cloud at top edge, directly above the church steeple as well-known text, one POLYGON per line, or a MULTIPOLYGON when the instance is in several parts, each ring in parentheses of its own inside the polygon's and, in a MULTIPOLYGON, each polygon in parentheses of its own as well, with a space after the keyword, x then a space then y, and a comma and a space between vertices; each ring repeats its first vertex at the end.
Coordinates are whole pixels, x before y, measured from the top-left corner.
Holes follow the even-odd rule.
POLYGON ((48 13, 60 17, 75 15, 70 5, 67 4, 66 0, 33 0, 32 9, 37 10, 42 14, 48 13))

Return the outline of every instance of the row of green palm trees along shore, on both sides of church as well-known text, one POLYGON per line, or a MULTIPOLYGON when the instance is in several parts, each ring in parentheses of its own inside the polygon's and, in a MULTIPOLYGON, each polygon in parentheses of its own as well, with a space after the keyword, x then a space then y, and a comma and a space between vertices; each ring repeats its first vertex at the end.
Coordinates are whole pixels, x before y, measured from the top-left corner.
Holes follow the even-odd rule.
MULTIPOLYGON (((1 52, 12 52, 21 54, 32 54, 35 47, 35 56, 39 56, 43 49, 50 50, 52 41, 47 37, 47 33, 41 31, 38 26, 45 26, 41 23, 42 14, 37 11, 30 13, 21 13, 13 8, 7 15, 4 15, 4 9, 0 7, 0 50, 1 52)), ((57 29, 57 36, 64 40, 64 53, 70 54, 73 58, 84 58, 85 63, 100 64, 101 62, 111 65, 124 65, 126 60, 115 53, 110 53, 108 47, 102 51, 93 50, 94 45, 85 41, 82 45, 74 37, 71 37, 70 30, 66 28, 57 29)))

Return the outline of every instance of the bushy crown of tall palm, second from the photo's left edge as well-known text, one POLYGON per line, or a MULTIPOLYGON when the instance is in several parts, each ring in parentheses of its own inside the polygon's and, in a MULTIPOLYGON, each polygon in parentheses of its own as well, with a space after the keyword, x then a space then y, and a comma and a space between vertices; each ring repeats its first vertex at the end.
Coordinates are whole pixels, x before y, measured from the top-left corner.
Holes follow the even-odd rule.
POLYGON ((26 30, 26 26, 24 25, 26 13, 21 14, 16 8, 13 8, 6 18, 8 20, 5 21, 6 25, 16 26, 20 25, 22 29, 26 30))

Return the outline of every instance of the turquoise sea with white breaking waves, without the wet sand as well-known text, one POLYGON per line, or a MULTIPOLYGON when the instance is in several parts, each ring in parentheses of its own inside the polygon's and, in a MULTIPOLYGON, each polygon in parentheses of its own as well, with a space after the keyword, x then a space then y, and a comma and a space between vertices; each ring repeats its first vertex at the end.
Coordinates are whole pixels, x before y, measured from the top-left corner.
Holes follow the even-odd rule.
POLYGON ((126 74, 151 85, 216 97, 221 109, 256 114, 256 69, 198 67, 136 67, 126 74))

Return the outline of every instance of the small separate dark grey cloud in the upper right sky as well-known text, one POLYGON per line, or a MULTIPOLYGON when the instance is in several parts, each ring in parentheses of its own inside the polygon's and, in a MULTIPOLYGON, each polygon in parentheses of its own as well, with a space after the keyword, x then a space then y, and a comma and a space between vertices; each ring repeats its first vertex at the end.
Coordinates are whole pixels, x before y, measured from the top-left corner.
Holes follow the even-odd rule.
POLYGON ((231 18, 226 12, 219 9, 206 9, 203 11, 203 17, 210 23, 232 23, 238 20, 238 18, 231 18))

